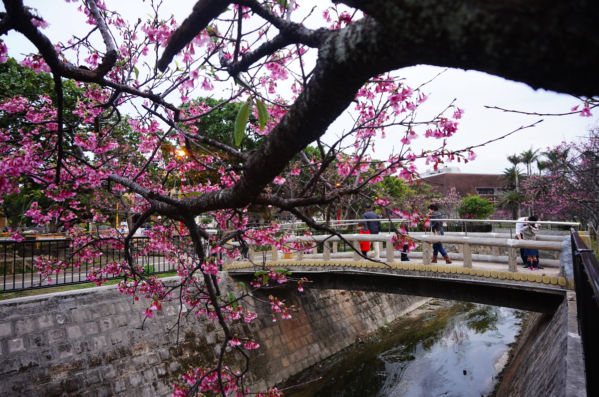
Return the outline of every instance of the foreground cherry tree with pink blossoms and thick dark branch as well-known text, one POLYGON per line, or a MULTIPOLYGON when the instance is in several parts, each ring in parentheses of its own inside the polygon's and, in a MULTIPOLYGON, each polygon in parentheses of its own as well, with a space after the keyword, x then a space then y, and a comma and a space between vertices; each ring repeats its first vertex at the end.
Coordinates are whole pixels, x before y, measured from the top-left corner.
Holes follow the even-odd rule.
MULTIPOLYGON (((287 252, 306 248, 287 243, 288 235, 280 235, 276 224, 250 225, 249 205, 288 211, 311 228, 336 234, 301 208, 324 208, 360 195, 389 175, 412 181, 419 158, 437 168, 476 157, 476 146, 446 146, 464 111, 452 103, 436 117, 421 119, 417 110, 429 94, 426 86, 411 87, 394 70, 419 63, 477 69, 579 96, 583 108, 576 111, 584 116, 595 106, 592 96, 598 91, 597 79, 589 78, 599 59, 595 2, 547 0, 539 7, 469 0, 347 1, 308 13, 320 21, 319 29, 296 19, 301 4, 295 1, 199 0, 182 23, 164 17, 170 14, 162 9, 166 5, 151 0, 152 15, 133 22, 97 0, 66 3, 81 11, 89 33, 52 43, 44 29, 62 21, 45 20, 23 0, 4 0, 0 37, 15 31, 34 44, 38 53, 21 65, 49 73, 54 92, 39 101, 18 94, 2 99, 2 117, 22 121, 0 131, 0 199, 19 193, 20 181, 28 178, 44 186, 47 198, 68 202, 51 208, 32 203, 25 215, 38 225, 72 219, 73 210, 102 222, 116 202, 139 215, 126 234, 75 232, 68 260, 75 266, 91 263, 102 254, 101 245, 123 249, 124 260, 94 269, 89 280, 101 284, 105 274, 123 277, 119 290, 147 299, 147 317, 177 293, 189 313, 219 324, 225 340, 217 365, 190 369, 175 386, 175 396, 249 393, 247 350, 258 344, 238 334, 232 322, 250 322, 258 313, 241 302, 268 283, 293 282, 302 290, 306 281, 255 263, 251 286, 240 286, 235 294, 220 292, 217 254, 238 255, 237 248, 225 247, 228 241, 237 247, 270 244, 287 252), (308 59, 316 60, 313 66, 308 59), (73 82, 83 95, 70 109, 65 87, 73 82), (220 103, 192 101, 216 86, 225 87, 227 95, 220 103), (241 106, 234 142, 224 143, 205 134, 198 120, 231 102, 241 106), (324 141, 326 129, 346 111, 353 126, 324 141), (250 132, 264 138, 257 149, 246 150, 241 144, 250 132), (386 134, 399 134, 403 146, 389 159, 377 160, 371 150, 386 134), (410 144, 419 137, 430 139, 431 149, 413 151, 410 144), (316 159, 304 151, 311 143, 320 154, 316 159), (217 178, 186 183, 187 175, 202 172, 217 178), (294 189, 279 189, 298 179, 302 183, 294 189), (181 191, 173 195, 176 180, 181 191), (80 196, 90 192, 83 202, 80 196), (146 232, 150 243, 137 250, 132 238, 154 214, 182 227, 158 222, 146 232), (195 222, 200 214, 210 214, 231 232, 214 238, 195 222), (177 245, 179 234, 187 239, 177 245), (208 250, 204 240, 210 242, 208 250), (143 274, 136 258, 149 251, 163 251, 177 266, 176 286, 143 274), (223 365, 228 346, 246 359, 241 371, 223 365)), ((0 62, 9 55, 0 41, 0 62)), ((369 198, 414 225, 422 222, 421 214, 402 212, 384 197, 369 198)), ((398 244, 407 243, 404 233, 398 231, 398 244)), ((65 263, 40 257, 36 266, 50 279, 65 263)), ((293 311, 274 296, 265 303, 274 320, 293 311)), ((282 394, 271 389, 258 395, 282 394)))

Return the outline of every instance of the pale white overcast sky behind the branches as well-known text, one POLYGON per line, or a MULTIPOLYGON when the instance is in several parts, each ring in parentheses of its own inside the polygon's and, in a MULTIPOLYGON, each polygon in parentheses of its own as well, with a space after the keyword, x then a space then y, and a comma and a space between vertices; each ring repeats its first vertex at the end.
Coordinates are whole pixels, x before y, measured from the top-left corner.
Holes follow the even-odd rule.
MULTIPOLYGON (((150 0, 146 2, 137 2, 132 0, 115 1, 107 0, 107 5, 111 9, 118 8, 118 11, 134 22, 138 18, 147 19, 149 13, 150 0), (114 7, 116 5, 116 7, 114 7)), ((177 8, 164 7, 163 10, 168 14, 173 13, 177 22, 182 22, 189 14, 195 1, 180 0, 168 4, 177 4, 177 8)), ((25 4, 32 8, 37 8, 40 16, 50 22, 50 28, 44 30, 53 43, 66 41, 72 34, 78 36, 85 35, 90 26, 84 23, 83 14, 76 9, 78 3, 66 3, 59 0, 25 0, 25 4)), ((330 2, 325 1, 299 1, 300 8, 297 13, 292 14, 292 20, 298 21, 310 9, 316 5, 312 23, 308 27, 314 27, 319 23, 324 23, 320 15, 325 8, 330 7, 330 2), (312 25, 313 24, 313 25, 312 25)), ((0 10, 4 11, 3 5, 0 10)), ((34 47, 28 43, 20 34, 10 32, 8 37, 2 37, 8 46, 8 54, 22 59, 21 54, 36 52, 34 47)), ((308 60, 308 64, 310 64, 308 60)), ((313 64, 313 62, 311 63, 313 64)), ((506 154, 521 153, 530 149, 545 149, 546 147, 558 144, 562 140, 572 140, 584 135, 586 128, 594 125, 599 117, 599 110, 592 111, 592 117, 580 117, 578 114, 570 116, 525 116, 515 113, 504 113, 498 110, 486 109, 484 106, 497 106, 512 110, 536 112, 536 113, 566 113, 570 108, 578 105, 578 99, 570 95, 559 94, 546 90, 533 90, 531 87, 505 80, 501 77, 495 77, 477 71, 464 71, 461 69, 444 69, 436 66, 418 65, 410 68, 400 69, 395 74, 406 78, 406 83, 411 87, 418 87, 425 81, 431 80, 435 75, 444 71, 429 83, 424 92, 429 94, 428 101, 419 107, 419 116, 434 116, 444 107, 446 107, 454 98, 457 99, 456 105, 465 109, 464 117, 460 120, 458 133, 450 138, 448 146, 450 149, 461 149, 468 146, 484 143, 493 138, 518 129, 521 126, 531 125, 538 120, 543 119, 539 125, 534 128, 519 131, 510 137, 504 138, 498 142, 490 144, 488 147, 479 148, 476 151, 478 157, 475 161, 466 165, 464 163, 450 163, 448 165, 459 166, 462 172, 473 173, 501 173, 504 168, 510 166, 506 160, 506 154)), ((219 95, 219 87, 210 94, 219 95)), ((207 95, 205 92, 196 92, 195 96, 207 95)), ((176 98, 170 98, 176 101, 176 98)), ((335 135, 340 134, 343 129, 350 127, 350 120, 347 116, 341 116, 333 123, 325 135, 326 140, 332 140, 335 135)), ((397 151, 400 145, 401 135, 387 133, 385 140, 377 141, 374 156, 385 159, 394 149, 397 151)), ((419 138, 414 141, 412 147, 416 152, 426 147, 437 147, 438 141, 432 138, 419 138), (432 142, 431 142, 432 140, 432 142)), ((426 171, 428 166, 419 164, 419 171, 426 171)), ((524 166, 521 166, 524 168, 524 166)))

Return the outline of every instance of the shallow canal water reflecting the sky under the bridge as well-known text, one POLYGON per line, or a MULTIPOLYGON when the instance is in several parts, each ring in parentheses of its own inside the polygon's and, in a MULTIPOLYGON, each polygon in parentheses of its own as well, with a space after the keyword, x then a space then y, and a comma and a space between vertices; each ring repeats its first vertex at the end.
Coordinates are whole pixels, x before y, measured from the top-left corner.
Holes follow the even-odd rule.
POLYGON ((287 381, 286 397, 488 396, 528 313, 435 300, 287 381))

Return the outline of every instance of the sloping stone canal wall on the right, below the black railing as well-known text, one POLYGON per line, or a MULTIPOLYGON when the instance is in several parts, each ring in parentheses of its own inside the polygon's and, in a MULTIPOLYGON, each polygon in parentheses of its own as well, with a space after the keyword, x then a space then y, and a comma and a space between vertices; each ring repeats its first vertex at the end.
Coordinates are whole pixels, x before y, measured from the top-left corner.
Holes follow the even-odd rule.
POLYGON ((495 396, 586 396, 573 292, 553 316, 531 316, 495 396))

